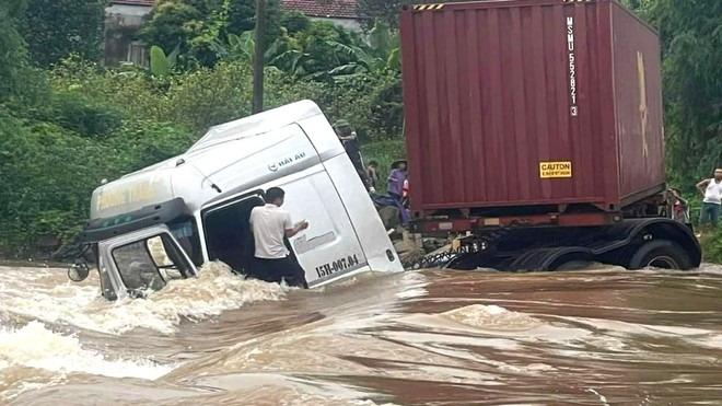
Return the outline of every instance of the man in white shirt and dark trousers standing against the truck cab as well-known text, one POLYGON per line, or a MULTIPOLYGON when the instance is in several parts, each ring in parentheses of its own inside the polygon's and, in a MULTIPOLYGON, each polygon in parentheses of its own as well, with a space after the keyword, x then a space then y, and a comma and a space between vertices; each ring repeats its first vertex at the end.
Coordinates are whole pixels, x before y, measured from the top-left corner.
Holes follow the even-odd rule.
POLYGON ((251 276, 267 282, 281 282, 307 288, 305 272, 301 265, 291 258, 283 239, 290 239, 308 228, 301 221, 293 225, 291 214, 281 209, 286 192, 271 187, 266 192, 266 205, 251 210, 251 227, 256 243, 254 267, 251 276))

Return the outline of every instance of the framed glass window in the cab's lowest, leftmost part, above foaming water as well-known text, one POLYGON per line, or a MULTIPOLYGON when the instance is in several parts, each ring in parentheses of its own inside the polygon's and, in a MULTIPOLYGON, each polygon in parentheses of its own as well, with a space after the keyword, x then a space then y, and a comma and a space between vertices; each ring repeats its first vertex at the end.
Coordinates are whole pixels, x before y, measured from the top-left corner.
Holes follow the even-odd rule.
POLYGON ((167 235, 155 235, 113 250, 113 260, 123 283, 132 291, 159 290, 170 280, 188 275, 167 235))

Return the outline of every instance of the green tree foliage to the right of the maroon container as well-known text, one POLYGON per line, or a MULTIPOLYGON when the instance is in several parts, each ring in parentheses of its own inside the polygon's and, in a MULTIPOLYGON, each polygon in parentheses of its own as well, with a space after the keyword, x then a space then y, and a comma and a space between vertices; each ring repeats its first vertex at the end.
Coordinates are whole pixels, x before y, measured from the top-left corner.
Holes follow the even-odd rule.
POLYGON ((694 185, 722 166, 722 1, 627 1, 660 31, 667 167, 694 185))

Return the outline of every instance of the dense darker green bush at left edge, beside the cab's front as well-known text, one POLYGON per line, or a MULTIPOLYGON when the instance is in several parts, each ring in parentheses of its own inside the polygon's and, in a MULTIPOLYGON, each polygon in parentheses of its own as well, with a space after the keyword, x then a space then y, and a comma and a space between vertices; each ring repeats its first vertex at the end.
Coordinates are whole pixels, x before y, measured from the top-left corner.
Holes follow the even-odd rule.
POLYGON ((124 121, 106 139, 51 123, 0 116, 0 247, 7 256, 47 254, 73 239, 90 197, 113 179, 188 148, 176 125, 124 121))

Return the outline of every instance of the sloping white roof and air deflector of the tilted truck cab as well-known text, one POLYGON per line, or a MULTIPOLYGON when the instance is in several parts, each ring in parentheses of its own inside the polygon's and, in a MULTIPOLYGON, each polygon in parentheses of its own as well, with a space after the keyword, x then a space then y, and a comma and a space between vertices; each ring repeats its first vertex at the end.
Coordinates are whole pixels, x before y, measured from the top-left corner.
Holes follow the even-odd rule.
POLYGON ((300 101, 213 126, 183 154, 98 186, 91 198, 90 220, 114 218, 175 198, 183 198, 186 213, 190 214, 206 204, 245 189, 249 183, 278 177, 282 174, 279 171, 303 170, 342 154, 343 148, 330 127, 324 131, 314 118, 325 121, 314 102, 300 101), (304 128, 314 130, 304 131, 304 128), (298 135, 305 137, 292 139, 298 135), (289 144, 288 153, 283 153, 280 143, 289 144), (278 153, 269 158, 267 150, 271 147, 278 153), (293 165, 282 165, 288 159, 293 165), (236 176, 230 182, 228 170, 242 160, 246 164, 235 169, 236 176), (268 162, 255 162, 258 160, 268 162))

